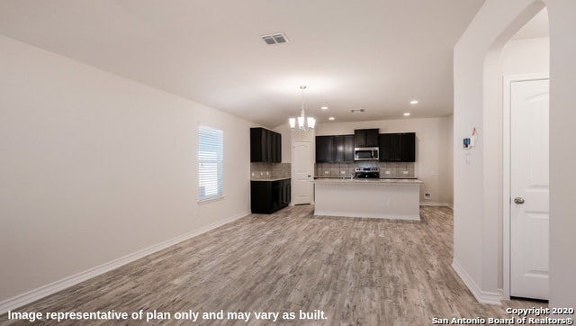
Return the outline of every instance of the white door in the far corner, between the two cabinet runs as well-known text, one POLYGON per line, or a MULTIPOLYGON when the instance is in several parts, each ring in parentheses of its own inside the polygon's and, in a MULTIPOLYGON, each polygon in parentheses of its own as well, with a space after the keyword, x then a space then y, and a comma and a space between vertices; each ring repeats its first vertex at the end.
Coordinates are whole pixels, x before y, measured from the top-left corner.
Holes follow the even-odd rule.
POLYGON ((311 148, 310 141, 293 140, 293 204, 311 204, 311 148))

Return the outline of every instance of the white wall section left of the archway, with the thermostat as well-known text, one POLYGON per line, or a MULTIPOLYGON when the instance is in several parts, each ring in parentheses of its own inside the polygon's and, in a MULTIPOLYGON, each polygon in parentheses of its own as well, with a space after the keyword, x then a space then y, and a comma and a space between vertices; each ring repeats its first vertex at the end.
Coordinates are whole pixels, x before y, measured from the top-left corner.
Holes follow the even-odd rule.
POLYGON ((502 299, 502 83, 505 45, 545 4, 488 0, 455 47, 455 258, 481 303, 502 299), (476 146, 461 139, 478 131, 476 146))

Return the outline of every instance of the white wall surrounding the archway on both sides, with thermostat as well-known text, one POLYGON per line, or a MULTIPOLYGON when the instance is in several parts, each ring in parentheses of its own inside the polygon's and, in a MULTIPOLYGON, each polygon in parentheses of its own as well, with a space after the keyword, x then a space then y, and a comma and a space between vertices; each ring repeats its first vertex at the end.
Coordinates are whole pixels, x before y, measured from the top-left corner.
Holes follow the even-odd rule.
MULTIPOLYGON (((576 181, 570 169, 576 145, 570 139, 573 77, 576 76, 576 2, 544 2, 550 20, 550 305, 573 307, 576 302, 576 219, 573 218, 576 181)), ((501 140, 500 52, 515 32, 542 7, 538 1, 487 0, 455 46, 455 258, 456 271, 484 302, 498 302, 499 183, 501 140), (461 140, 476 127, 480 140, 465 161, 461 140)))

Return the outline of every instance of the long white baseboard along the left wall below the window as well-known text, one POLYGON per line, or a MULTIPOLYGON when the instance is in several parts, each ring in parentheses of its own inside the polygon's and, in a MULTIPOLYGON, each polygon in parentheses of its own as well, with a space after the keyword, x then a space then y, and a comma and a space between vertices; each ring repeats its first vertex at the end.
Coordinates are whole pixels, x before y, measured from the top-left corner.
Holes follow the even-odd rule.
POLYGON ((63 278, 61 280, 58 280, 54 283, 50 283, 49 285, 43 285, 43 286, 40 286, 39 288, 33 289, 29 292, 16 295, 12 298, 4 300, 3 302, 0 302, 0 314, 4 314, 8 311, 17 309, 19 307, 22 307, 25 304, 32 303, 36 300, 39 300, 43 297, 50 295, 50 294, 55 294, 58 291, 62 291, 64 289, 66 289, 67 287, 70 287, 72 285, 76 285, 80 282, 84 282, 85 280, 88 280, 94 276, 102 275, 103 273, 109 272, 112 269, 126 265, 126 264, 128 264, 134 260, 139 259, 139 258, 144 258, 144 257, 146 257, 150 254, 153 254, 159 250, 166 249, 170 246, 174 246, 175 244, 180 243, 184 240, 188 240, 188 239, 191 239, 193 237, 199 236, 202 233, 216 229, 216 228, 218 228, 224 224, 228 224, 229 222, 236 221, 239 218, 247 216, 248 214, 249 213, 246 212, 246 213, 239 213, 238 215, 235 215, 235 216, 230 216, 230 217, 223 219, 223 220, 220 220, 218 222, 211 223, 210 225, 207 225, 201 229, 190 231, 188 233, 184 233, 184 234, 182 234, 178 237, 175 237, 173 239, 160 242, 160 243, 158 243, 154 246, 148 247, 146 249, 141 249, 139 251, 131 253, 130 255, 127 255, 127 256, 124 256, 124 257, 121 257, 118 259, 114 259, 112 261, 104 263, 103 265, 87 269, 84 272, 78 273, 76 275, 68 276, 68 277, 63 278))

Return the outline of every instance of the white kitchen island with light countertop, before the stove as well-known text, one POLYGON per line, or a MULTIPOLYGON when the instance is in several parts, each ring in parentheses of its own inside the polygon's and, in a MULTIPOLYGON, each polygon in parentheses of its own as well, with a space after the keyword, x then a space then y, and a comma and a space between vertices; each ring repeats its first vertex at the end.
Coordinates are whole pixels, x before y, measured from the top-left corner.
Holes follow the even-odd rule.
POLYGON ((420 221, 418 179, 318 178, 314 215, 420 221))

